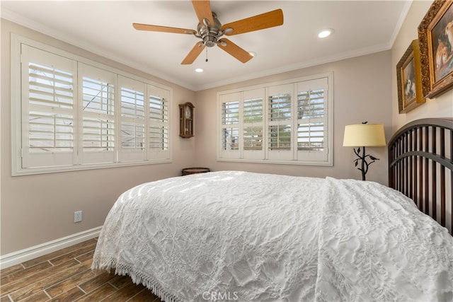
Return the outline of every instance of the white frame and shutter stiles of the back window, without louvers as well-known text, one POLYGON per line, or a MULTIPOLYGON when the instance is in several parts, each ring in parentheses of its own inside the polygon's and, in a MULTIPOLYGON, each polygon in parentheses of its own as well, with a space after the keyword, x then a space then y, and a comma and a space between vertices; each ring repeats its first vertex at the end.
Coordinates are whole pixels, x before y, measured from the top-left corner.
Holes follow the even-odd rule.
MULTIPOLYGON (((243 117, 242 117, 243 118, 243 117)), ((295 128, 294 128, 295 129, 295 128)), ((241 87, 241 88, 234 88, 228 91, 219 91, 217 92, 217 161, 231 161, 231 162, 243 162, 243 163, 271 163, 271 164, 286 164, 286 165, 319 165, 319 166, 333 166, 333 71, 329 71, 326 73, 321 73, 321 74, 314 74, 311 76, 302 76, 299 78, 294 78, 294 79, 287 79, 287 80, 282 80, 282 81, 275 81, 275 82, 270 82, 270 83, 262 83, 258 84, 255 86, 246 86, 246 87, 241 87), (278 151, 270 151, 269 147, 269 138, 268 138, 268 129, 270 125, 273 123, 270 122, 269 119, 269 91, 273 87, 276 86, 294 86, 292 93, 292 108, 293 108, 293 114, 295 113, 295 116, 292 116, 291 123, 292 124, 297 124, 297 85, 298 83, 301 82, 309 82, 309 81, 316 81, 320 79, 326 79, 326 92, 325 92, 325 103, 326 103, 326 108, 324 109, 324 114, 326 115, 325 120, 327 122, 327 125, 325 127, 326 133, 326 142, 325 142, 325 147, 326 148, 326 154, 325 158, 323 159, 318 159, 315 158, 311 155, 314 154, 314 152, 309 154, 310 151, 298 151, 297 150, 297 141, 291 142, 291 152, 287 152, 287 154, 283 156, 279 156, 277 153, 278 151), (243 93, 248 93, 249 91, 257 91, 259 89, 263 90, 263 100, 264 100, 264 108, 263 108, 263 116, 265 117, 265 120, 263 120, 263 155, 261 156, 254 156, 246 158, 244 154, 246 151, 244 150, 244 147, 242 146, 243 144, 243 127, 246 125, 245 122, 239 121, 237 124, 237 128, 239 129, 239 139, 238 139, 238 144, 239 144, 239 150, 234 150, 231 151, 231 156, 228 155, 229 151, 224 151, 223 146, 223 137, 222 137, 222 104, 228 102, 227 99, 231 95, 236 95, 236 98, 239 100, 239 116, 242 117, 242 107, 243 107, 243 100, 246 100, 245 97, 242 97, 243 93), (222 100, 223 98, 223 100, 222 100), (302 153, 301 153, 302 152, 302 153), (304 158, 300 158, 301 154, 303 152, 306 152, 304 155, 304 158), (270 153, 273 153, 270 156, 270 153), (297 159, 293 159, 297 158, 297 159)), ((294 134, 292 133, 293 138, 294 134)), ((292 140, 292 139, 291 139, 292 140)))

